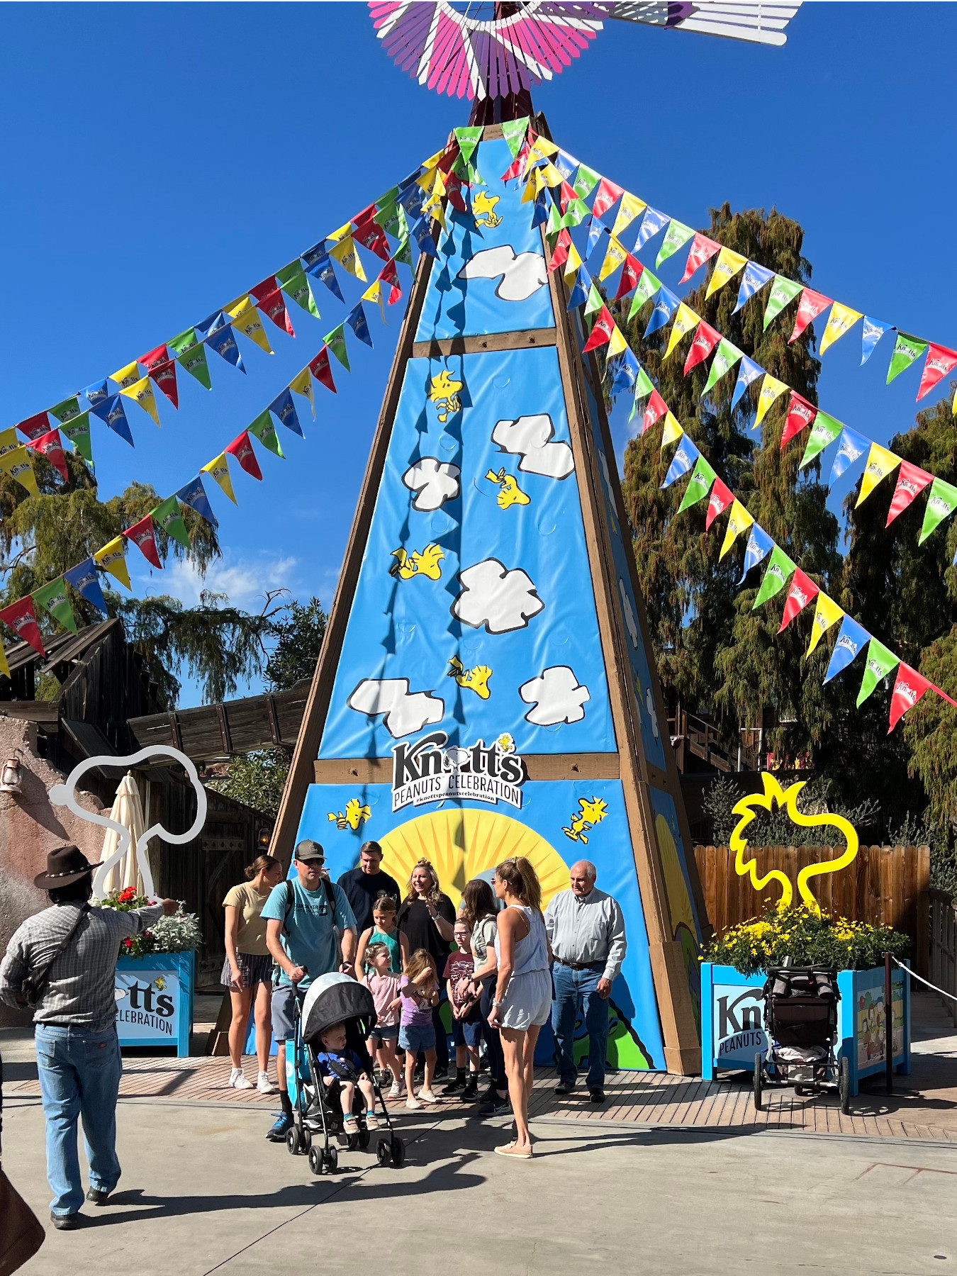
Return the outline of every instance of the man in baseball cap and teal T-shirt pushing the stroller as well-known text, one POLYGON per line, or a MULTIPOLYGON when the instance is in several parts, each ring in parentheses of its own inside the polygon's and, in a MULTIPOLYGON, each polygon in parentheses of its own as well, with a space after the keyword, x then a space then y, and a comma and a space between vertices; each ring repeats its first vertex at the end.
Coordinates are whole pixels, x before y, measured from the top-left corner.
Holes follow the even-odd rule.
POLYGON ((325 851, 306 838, 296 846, 292 866, 295 875, 273 887, 260 914, 265 946, 278 967, 272 1012, 282 1113, 265 1136, 273 1143, 285 1142, 292 1124, 286 1042, 295 1036, 296 994, 318 975, 338 970, 355 976, 356 919, 345 891, 325 873, 325 851))

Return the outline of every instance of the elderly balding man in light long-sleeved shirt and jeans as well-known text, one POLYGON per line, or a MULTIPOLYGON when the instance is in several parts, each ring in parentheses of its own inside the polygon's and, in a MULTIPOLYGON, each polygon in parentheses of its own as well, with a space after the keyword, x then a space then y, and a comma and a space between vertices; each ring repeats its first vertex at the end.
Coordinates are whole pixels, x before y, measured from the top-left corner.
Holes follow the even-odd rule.
POLYGON ((559 1069, 556 1095, 574 1090, 578 1069, 573 1039, 578 1007, 584 1009, 588 1034, 588 1094, 605 1101, 605 1054, 609 1044, 607 999, 625 956, 625 920, 616 900, 595 886, 597 872, 588 860, 570 870, 570 888, 559 891, 545 910, 545 929, 555 957, 551 1030, 559 1069))

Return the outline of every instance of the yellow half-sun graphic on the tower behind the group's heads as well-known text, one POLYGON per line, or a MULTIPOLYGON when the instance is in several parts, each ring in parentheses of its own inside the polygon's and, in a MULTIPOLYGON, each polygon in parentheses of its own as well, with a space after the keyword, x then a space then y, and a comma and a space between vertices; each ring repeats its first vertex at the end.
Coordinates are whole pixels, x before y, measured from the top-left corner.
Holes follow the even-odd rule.
POLYGON ((524 855, 538 874, 542 907, 568 887, 568 865, 558 851, 533 829, 498 812, 453 808, 417 815, 380 837, 379 845, 382 866, 396 878, 403 896, 420 859, 431 863, 456 907, 466 882, 513 855, 524 855))

